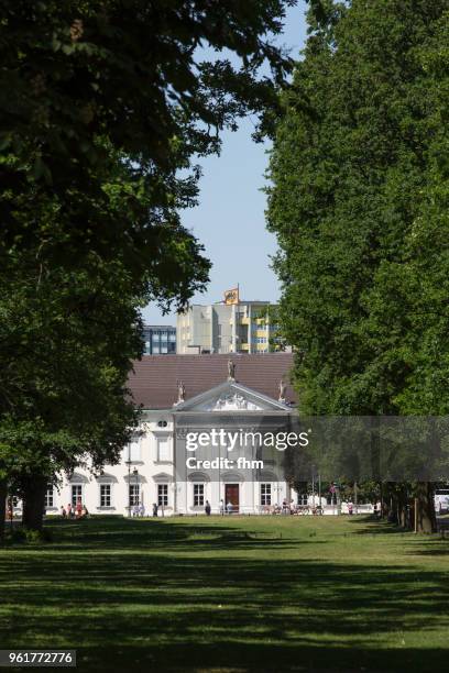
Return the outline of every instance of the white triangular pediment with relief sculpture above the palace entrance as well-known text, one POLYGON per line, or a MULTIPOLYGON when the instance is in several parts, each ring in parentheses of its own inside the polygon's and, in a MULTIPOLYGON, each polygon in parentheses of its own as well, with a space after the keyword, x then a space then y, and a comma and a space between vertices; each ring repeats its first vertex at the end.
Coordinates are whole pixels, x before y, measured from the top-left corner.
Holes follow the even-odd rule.
POLYGON ((234 380, 227 380, 200 395, 175 405, 174 411, 285 411, 291 408, 234 380))

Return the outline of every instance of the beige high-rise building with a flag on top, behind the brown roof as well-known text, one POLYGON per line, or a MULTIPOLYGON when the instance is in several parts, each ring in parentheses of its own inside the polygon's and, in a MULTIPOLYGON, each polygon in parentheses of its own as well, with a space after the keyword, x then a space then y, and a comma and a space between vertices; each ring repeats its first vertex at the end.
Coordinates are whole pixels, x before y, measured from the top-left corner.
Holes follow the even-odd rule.
POLYGON ((176 352, 198 353, 269 353, 277 326, 266 315, 274 307, 269 301, 217 302, 193 305, 179 313, 176 323, 176 352))

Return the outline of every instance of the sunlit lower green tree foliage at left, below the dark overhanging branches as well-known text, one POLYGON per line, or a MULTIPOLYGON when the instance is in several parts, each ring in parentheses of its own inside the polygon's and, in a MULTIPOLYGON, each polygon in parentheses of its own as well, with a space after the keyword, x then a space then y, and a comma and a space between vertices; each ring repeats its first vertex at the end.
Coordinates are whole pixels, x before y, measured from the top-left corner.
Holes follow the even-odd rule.
POLYGON ((94 465, 117 461, 136 421, 125 385, 142 347, 139 298, 123 266, 91 255, 90 268, 35 268, 31 254, 17 253, 6 271, 3 474, 20 488, 30 475, 52 479, 87 456, 94 465))

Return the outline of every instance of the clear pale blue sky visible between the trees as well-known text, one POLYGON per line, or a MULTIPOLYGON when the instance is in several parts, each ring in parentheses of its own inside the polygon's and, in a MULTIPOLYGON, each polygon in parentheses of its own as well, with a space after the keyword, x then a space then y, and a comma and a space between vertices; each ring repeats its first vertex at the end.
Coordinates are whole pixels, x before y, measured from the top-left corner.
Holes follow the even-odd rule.
MULTIPOLYGON (((278 43, 297 57, 306 36, 305 2, 289 8, 284 33, 278 43)), ((185 227, 205 246, 211 261, 210 283, 193 304, 211 304, 222 299, 226 289, 240 284, 242 299, 278 299, 278 283, 270 268, 270 255, 276 242, 265 229, 265 184, 269 143, 256 144, 251 139, 254 128, 250 119, 240 123, 234 133, 222 135, 219 156, 201 159, 199 205, 182 212, 185 227)), ((176 324, 176 315, 162 316, 155 305, 143 311, 147 324, 176 324)))

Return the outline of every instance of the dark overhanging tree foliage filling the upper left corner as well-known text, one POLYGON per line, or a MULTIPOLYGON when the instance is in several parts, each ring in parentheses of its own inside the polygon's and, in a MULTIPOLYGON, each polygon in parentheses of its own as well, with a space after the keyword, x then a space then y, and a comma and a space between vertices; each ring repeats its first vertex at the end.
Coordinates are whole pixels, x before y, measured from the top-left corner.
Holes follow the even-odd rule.
POLYGON ((52 266, 119 256, 149 298, 183 307, 209 268, 177 214, 195 202, 191 158, 248 112, 266 130, 289 65, 270 34, 292 1, 3 2, 0 261, 24 245, 52 266))

